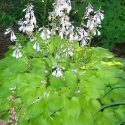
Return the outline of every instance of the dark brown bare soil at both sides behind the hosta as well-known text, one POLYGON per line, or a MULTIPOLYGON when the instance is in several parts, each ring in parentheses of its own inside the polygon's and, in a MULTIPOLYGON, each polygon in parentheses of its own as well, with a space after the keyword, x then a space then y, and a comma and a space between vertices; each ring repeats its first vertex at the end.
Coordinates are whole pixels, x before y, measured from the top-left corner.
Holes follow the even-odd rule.
MULTIPOLYGON (((14 31, 18 31, 17 27, 14 27, 14 31)), ((5 28, 0 27, 0 59, 4 58, 4 54, 8 51, 9 45, 11 45, 10 35, 4 35, 5 28)), ((125 54, 122 52, 125 49, 125 43, 117 44, 112 52, 117 57, 125 58, 125 54)))

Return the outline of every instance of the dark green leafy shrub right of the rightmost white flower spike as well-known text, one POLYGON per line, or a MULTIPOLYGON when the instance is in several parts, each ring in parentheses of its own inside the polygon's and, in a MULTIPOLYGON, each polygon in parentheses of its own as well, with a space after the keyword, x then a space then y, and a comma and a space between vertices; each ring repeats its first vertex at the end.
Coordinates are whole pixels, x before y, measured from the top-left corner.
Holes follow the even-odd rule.
POLYGON ((102 22, 102 35, 98 37, 105 48, 113 49, 116 43, 125 42, 125 1, 99 1, 105 11, 105 20, 102 22))

